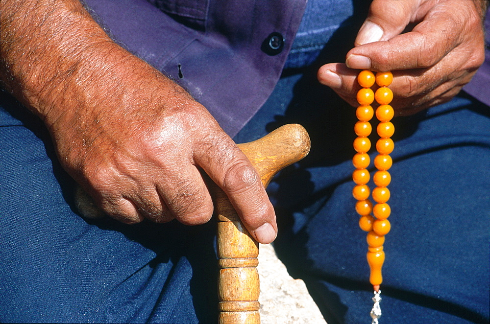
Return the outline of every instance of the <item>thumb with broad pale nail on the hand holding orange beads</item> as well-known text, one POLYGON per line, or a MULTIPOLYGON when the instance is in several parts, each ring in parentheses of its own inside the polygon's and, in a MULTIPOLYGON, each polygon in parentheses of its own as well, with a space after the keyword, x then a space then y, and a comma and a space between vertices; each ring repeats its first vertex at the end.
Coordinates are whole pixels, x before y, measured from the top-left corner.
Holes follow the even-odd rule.
POLYGON ((399 35, 410 23, 419 2, 420 0, 373 0, 368 18, 361 26, 354 45, 388 41, 399 35))

